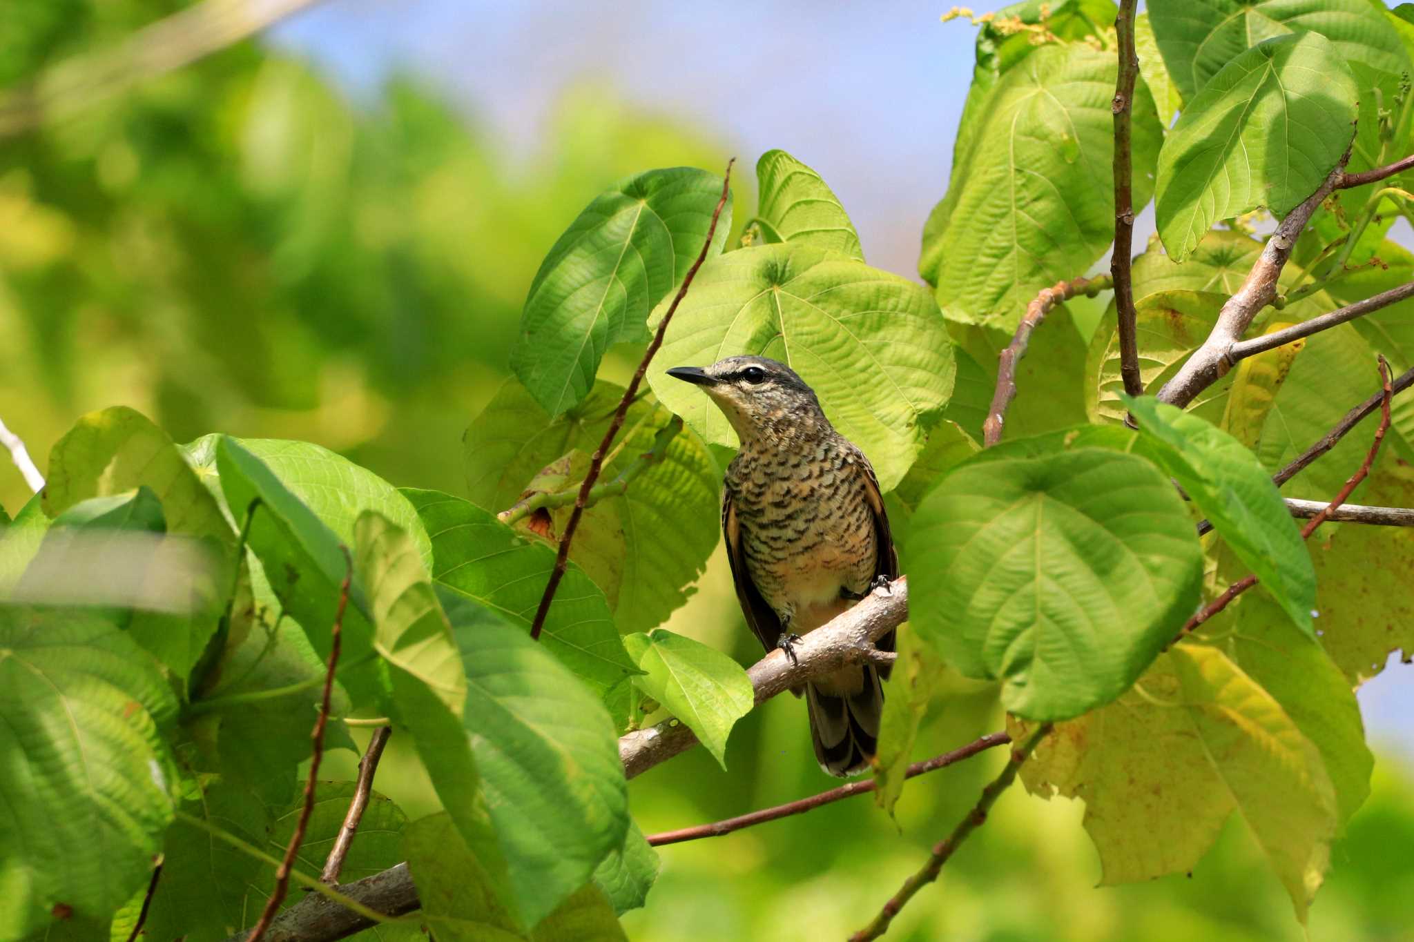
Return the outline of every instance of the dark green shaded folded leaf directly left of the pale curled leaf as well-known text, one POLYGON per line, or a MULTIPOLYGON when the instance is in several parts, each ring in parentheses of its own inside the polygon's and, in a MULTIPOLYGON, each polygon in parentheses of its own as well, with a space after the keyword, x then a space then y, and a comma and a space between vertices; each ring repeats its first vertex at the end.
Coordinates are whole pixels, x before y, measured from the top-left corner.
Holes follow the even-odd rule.
MULTIPOLYGON (((247 547, 260 561, 281 609, 300 623, 320 660, 327 660, 341 585, 351 575, 348 551, 339 537, 236 439, 219 439, 216 467, 229 507, 245 508, 260 500, 250 518, 247 547)), ((375 655, 368 610, 362 588, 351 582, 341 626, 339 681, 356 703, 376 700, 382 688, 373 669, 359 667, 368 665, 375 655), (352 667, 344 669, 346 665, 352 667)))

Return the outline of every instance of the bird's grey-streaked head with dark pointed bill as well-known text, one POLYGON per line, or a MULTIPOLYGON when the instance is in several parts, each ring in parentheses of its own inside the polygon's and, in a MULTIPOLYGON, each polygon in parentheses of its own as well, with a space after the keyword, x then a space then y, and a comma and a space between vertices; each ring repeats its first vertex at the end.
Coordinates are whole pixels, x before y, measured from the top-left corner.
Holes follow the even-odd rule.
POLYGON ((789 366, 764 356, 730 356, 708 367, 676 366, 667 374, 703 387, 742 442, 775 439, 824 422, 814 390, 789 366))

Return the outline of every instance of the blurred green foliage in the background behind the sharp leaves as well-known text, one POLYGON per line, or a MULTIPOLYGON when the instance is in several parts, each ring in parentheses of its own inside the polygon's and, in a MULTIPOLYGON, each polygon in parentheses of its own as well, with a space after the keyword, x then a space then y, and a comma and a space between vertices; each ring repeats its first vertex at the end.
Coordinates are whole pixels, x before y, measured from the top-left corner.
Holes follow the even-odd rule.
MULTIPOLYGON (((181 6, 6 4, 0 86, 181 6)), ((78 415, 124 404, 177 441, 308 439, 396 484, 464 494, 460 436, 509 374, 520 306, 554 239, 614 179, 645 167, 715 172, 727 153, 710 131, 584 85, 520 160, 423 78, 354 102, 310 64, 242 44, 0 140, 0 418, 41 469, 78 415)), ((744 206, 748 188, 735 188, 744 206)), ((617 356, 605 378, 626 373, 617 356)), ((13 514, 27 497, 0 462, 0 506, 13 514)), ((720 549, 669 627, 742 662, 759 654, 720 549)), ((1001 727, 994 688, 946 686, 916 757, 1001 727)), ((797 702, 769 702, 738 725, 730 771, 694 750, 633 780, 636 822, 652 833, 830 787, 803 733, 797 702)), ((860 798, 665 847, 648 908, 624 924, 655 941, 841 936, 919 866, 1001 761, 997 751, 911 784, 898 829, 860 798)), ((335 751, 325 768, 352 778, 354 765, 335 751)), ((410 819, 440 809, 397 737, 379 789, 410 819)), ((1414 939, 1408 794, 1407 771, 1381 763, 1335 846, 1312 938, 1414 939)), ((1096 888, 1082 811, 1012 789, 889 938, 1301 938, 1236 822, 1189 878, 1096 888)))

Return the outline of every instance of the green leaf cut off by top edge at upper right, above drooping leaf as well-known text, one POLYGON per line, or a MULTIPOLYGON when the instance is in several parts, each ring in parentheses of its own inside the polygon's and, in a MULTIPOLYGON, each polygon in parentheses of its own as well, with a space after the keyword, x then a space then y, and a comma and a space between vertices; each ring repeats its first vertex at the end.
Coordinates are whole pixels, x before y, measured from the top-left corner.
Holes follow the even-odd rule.
POLYGON ((1398 37, 1366 0, 1155 3, 1150 17, 1164 62, 1189 102, 1249 48, 1291 32, 1324 35, 1346 62, 1396 76, 1408 69, 1398 37))

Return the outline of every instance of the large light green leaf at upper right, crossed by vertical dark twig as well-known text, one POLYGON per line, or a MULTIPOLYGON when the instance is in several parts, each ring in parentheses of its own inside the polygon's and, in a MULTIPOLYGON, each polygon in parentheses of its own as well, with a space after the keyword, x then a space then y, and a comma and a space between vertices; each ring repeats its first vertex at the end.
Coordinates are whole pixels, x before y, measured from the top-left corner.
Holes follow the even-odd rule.
MULTIPOLYGON (((919 260, 949 316, 1011 330, 1038 290, 1104 254, 1114 240, 1114 82, 1113 52, 1044 45, 969 109, 976 127, 966 151, 959 136, 919 260)), ((1140 208, 1154 192, 1161 138, 1148 95, 1134 99, 1133 127, 1140 208)))

